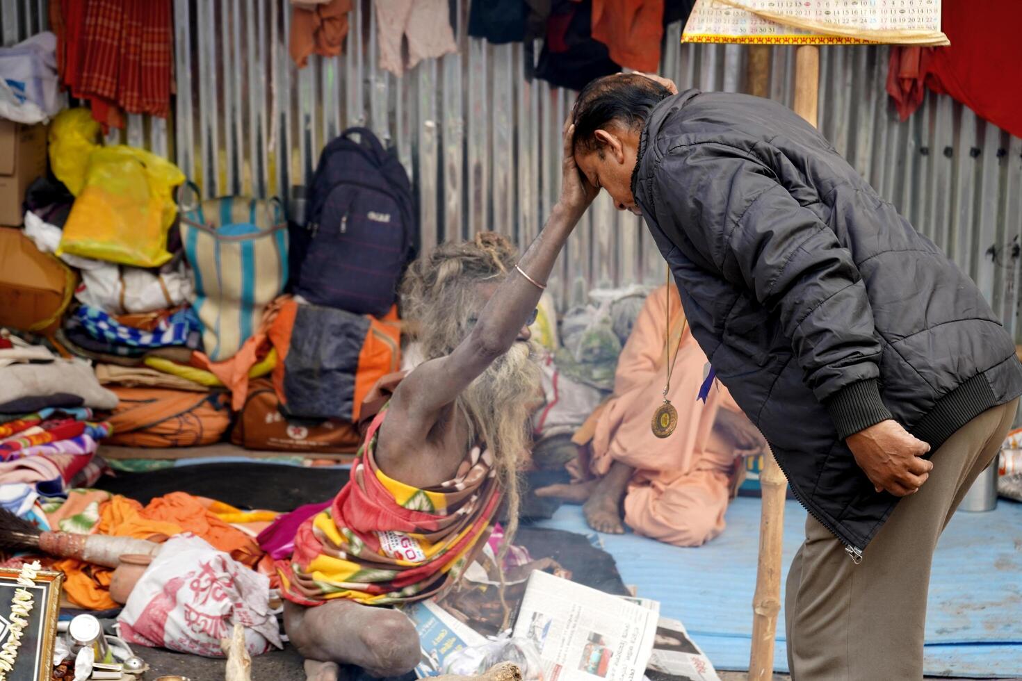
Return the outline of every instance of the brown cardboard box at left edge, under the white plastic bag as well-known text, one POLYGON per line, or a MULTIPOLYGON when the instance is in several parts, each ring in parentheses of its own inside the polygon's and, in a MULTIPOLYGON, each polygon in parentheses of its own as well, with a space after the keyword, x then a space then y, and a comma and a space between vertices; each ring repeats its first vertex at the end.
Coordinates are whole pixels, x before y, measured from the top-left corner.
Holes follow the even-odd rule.
POLYGON ((0 119, 0 225, 21 224, 25 190, 44 175, 46 126, 0 119))

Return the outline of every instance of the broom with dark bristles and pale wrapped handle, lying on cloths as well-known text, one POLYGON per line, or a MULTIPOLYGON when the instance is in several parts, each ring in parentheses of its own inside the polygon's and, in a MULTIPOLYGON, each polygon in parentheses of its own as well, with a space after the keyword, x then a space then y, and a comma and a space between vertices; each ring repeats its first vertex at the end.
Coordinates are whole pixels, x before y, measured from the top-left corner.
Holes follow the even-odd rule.
POLYGON ((47 553, 61 558, 78 558, 106 568, 117 568, 125 553, 153 555, 159 544, 132 537, 104 534, 75 534, 41 530, 6 508, 0 508, 0 553, 47 553))

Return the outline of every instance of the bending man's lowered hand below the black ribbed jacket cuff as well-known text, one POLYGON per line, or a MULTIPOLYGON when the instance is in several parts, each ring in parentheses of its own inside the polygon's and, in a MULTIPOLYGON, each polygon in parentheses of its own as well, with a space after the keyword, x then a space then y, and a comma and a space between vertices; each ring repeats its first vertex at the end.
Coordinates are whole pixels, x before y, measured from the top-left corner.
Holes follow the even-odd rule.
POLYGON ((920 458, 930 445, 917 440, 895 421, 882 421, 845 440, 855 463, 876 490, 894 496, 919 491, 930 477, 933 463, 920 458))

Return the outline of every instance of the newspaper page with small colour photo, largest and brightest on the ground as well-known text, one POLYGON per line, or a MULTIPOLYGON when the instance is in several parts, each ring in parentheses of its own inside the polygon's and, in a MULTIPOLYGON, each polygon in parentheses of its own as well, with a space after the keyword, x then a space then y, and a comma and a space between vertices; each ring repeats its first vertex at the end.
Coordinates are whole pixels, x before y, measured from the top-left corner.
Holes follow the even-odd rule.
POLYGON ((659 603, 636 600, 533 572, 514 636, 536 643, 544 681, 641 681, 659 603))

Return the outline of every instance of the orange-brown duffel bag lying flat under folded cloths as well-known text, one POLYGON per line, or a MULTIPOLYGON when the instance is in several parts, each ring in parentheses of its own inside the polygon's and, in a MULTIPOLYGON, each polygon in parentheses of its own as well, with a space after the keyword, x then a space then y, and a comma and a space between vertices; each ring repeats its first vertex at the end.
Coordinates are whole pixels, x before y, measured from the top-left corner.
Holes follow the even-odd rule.
POLYGON ((226 392, 107 386, 121 403, 103 444, 126 447, 197 447, 219 442, 231 427, 226 392))

